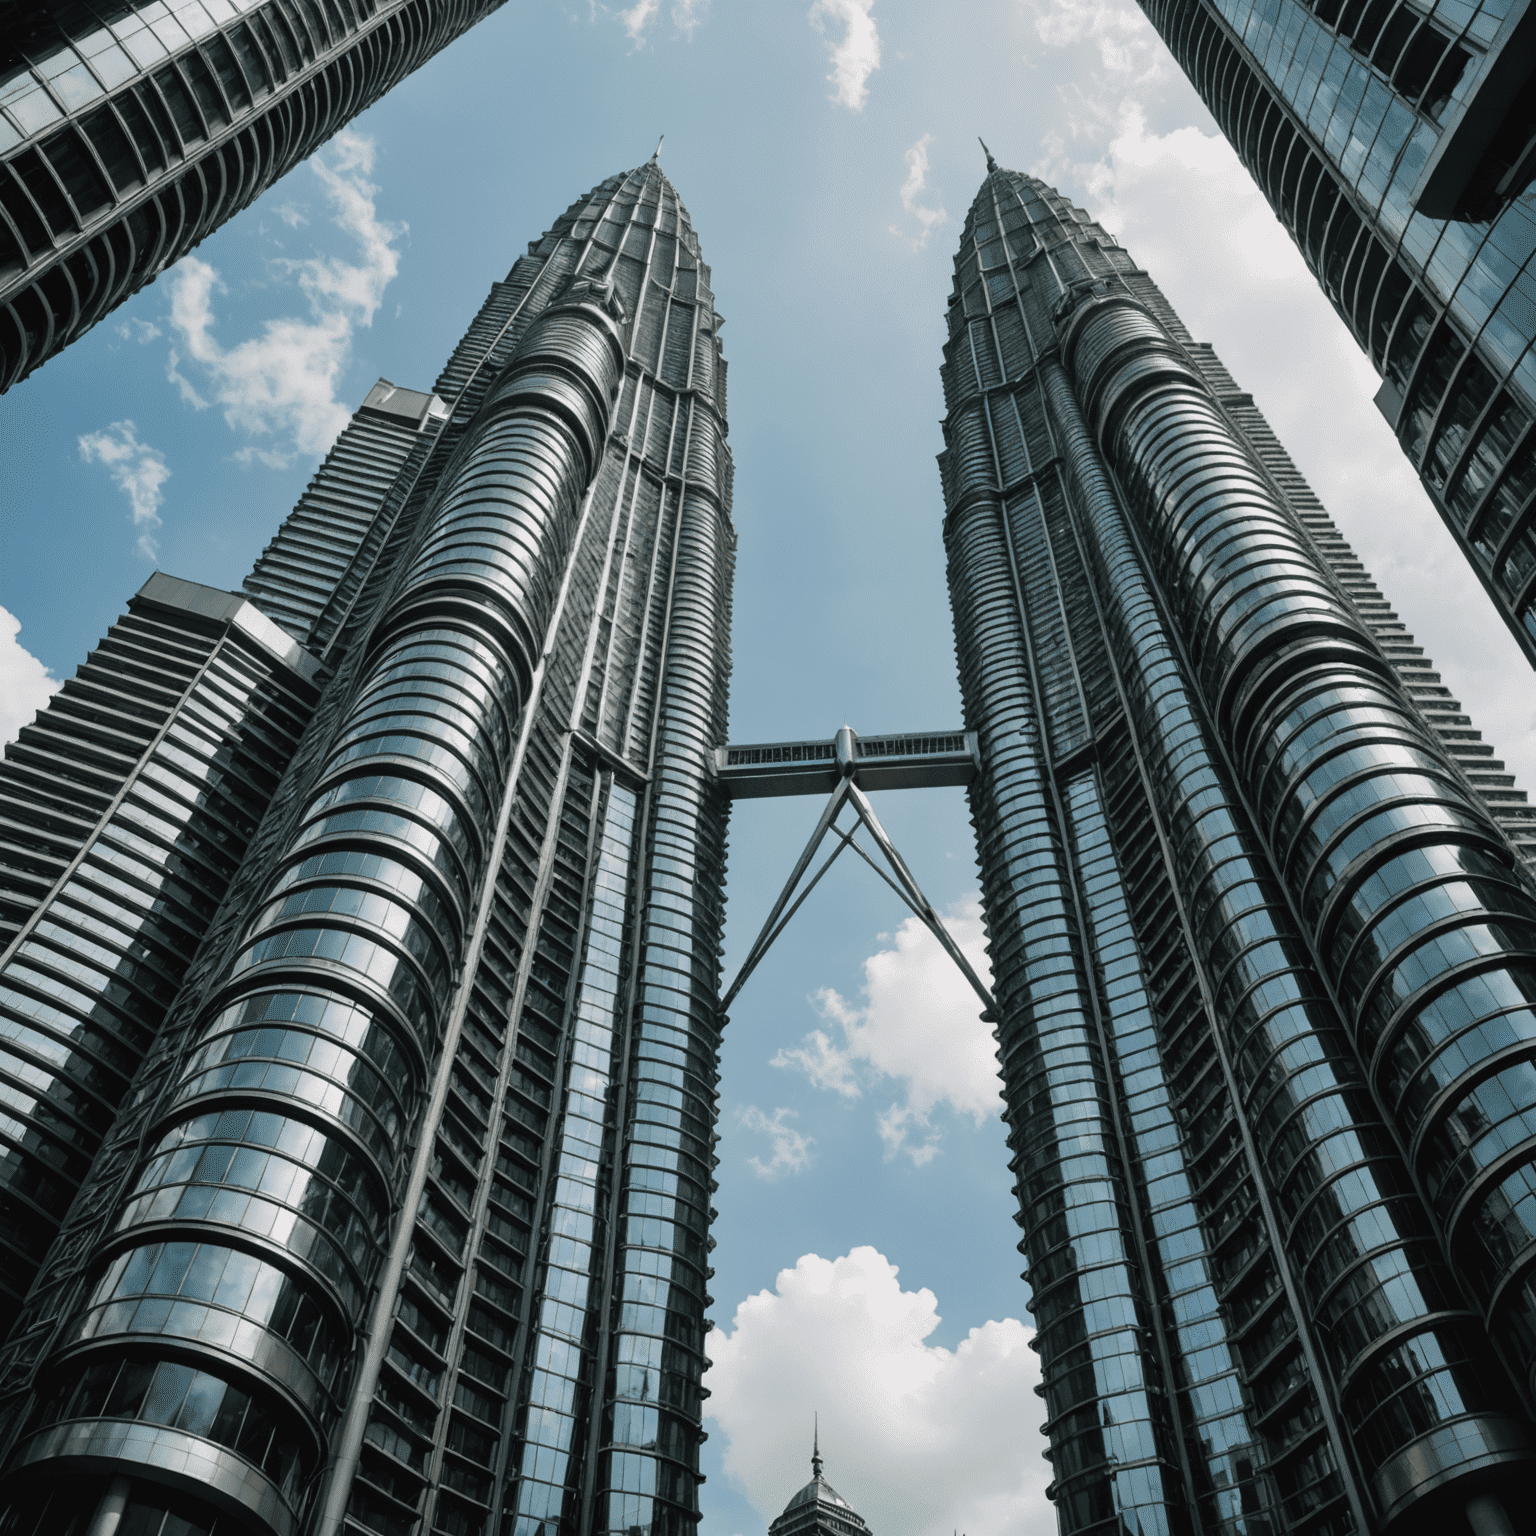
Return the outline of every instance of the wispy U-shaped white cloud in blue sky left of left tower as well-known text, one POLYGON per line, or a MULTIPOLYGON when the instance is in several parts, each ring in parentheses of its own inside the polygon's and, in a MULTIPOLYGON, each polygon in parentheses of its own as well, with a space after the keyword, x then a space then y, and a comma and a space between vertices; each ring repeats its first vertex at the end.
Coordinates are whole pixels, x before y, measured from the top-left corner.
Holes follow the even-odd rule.
POLYGON ((370 326, 384 289, 399 270, 395 241, 404 224, 379 220, 373 141, 341 132, 327 155, 310 169, 330 204, 332 223, 358 247, 358 260, 313 255, 272 263, 273 273, 298 286, 309 318, 269 319, 260 336, 232 347, 215 336, 214 295, 218 272, 198 257, 186 257, 170 275, 170 326, 177 350, 170 378, 189 406, 223 407, 230 429, 260 439, 237 458, 287 464, 293 453, 323 453, 347 424, 350 410, 336 399, 336 386, 350 359, 352 336, 370 326), (190 376, 187 376, 190 375, 190 376))

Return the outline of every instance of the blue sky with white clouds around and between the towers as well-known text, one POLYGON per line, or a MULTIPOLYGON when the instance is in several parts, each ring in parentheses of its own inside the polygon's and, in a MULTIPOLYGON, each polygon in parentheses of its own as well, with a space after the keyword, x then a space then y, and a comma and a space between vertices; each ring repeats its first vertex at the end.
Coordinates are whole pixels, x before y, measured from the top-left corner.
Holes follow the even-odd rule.
MULTIPOLYGON (((1530 670, 1369 366, 1129 0, 513 0, 0 399, 0 736, 157 565, 237 587, 373 379, 430 387, 525 241, 662 132, 728 319, 733 737, 958 720, 937 370, 980 134, 1104 218, 1215 343, 1533 777, 1530 670)), ((963 794, 879 811, 975 946, 963 794)), ((814 813, 737 809, 728 969, 814 813)), ((703 1490, 720 1536, 763 1530, 805 1479, 816 1410, 828 1475, 876 1530, 1055 1528, 991 1043, 902 919, 839 865, 733 1008, 703 1490)))

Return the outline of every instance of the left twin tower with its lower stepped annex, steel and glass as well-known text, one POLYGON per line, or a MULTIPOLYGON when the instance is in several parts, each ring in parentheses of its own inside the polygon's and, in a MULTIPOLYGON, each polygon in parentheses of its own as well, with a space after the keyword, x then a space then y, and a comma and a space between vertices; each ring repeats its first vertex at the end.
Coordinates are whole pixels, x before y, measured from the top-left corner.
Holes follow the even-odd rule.
POLYGON ((8 753, 6 1536, 697 1524, 717 329, 602 183, 8 753))

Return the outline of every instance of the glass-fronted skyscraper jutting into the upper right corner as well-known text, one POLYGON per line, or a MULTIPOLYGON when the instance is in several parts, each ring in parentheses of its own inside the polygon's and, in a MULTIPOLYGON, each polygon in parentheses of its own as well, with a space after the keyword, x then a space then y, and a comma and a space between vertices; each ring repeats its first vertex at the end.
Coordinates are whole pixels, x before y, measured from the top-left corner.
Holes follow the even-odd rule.
POLYGON ((1536 20, 1522 3, 1141 0, 1382 376, 1536 664, 1536 20))

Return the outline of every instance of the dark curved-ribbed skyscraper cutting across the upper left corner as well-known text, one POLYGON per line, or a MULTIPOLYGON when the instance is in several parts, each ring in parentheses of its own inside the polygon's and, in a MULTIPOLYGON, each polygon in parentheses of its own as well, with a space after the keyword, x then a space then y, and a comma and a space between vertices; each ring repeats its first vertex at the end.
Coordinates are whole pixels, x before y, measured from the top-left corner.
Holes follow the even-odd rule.
POLYGON ((0 390, 501 0, 0 0, 0 390))

